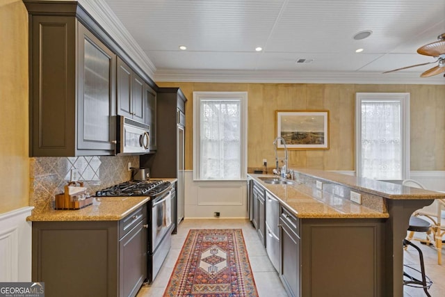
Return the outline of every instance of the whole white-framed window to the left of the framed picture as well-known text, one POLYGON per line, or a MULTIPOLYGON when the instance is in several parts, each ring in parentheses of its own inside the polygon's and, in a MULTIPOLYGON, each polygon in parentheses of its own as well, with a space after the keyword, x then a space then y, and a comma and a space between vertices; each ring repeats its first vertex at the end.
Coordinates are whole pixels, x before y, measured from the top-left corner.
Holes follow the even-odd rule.
POLYGON ((247 93, 193 93, 193 178, 238 180, 247 174, 247 93))

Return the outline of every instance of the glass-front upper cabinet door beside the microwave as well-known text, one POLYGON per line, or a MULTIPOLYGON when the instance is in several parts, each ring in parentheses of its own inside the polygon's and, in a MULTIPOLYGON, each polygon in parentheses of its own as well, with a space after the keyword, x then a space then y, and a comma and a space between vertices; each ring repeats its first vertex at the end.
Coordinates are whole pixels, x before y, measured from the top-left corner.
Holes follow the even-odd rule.
POLYGON ((116 55, 82 24, 78 26, 77 149, 110 154, 115 150, 116 55))

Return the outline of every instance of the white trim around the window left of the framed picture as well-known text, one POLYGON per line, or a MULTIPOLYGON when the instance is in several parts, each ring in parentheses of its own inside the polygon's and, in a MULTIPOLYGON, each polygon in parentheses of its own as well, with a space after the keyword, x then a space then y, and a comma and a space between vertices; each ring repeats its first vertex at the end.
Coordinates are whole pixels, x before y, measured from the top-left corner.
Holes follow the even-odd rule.
MULTIPOLYGON (((193 180, 200 179, 200 100, 201 99, 237 99, 241 101, 241 178, 247 179, 248 168, 248 93, 247 92, 193 92, 193 180)), ((221 179, 227 181, 227 179, 221 179)), ((238 179, 236 179, 238 180, 238 179)), ((209 182, 215 182, 215 179, 209 182)))

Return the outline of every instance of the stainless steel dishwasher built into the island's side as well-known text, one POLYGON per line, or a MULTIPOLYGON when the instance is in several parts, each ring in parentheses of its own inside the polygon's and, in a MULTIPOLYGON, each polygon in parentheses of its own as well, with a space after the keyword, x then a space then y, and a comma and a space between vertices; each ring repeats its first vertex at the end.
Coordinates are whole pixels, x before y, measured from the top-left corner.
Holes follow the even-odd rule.
POLYGON ((280 202, 266 191, 266 252, 275 267, 280 271, 280 202))

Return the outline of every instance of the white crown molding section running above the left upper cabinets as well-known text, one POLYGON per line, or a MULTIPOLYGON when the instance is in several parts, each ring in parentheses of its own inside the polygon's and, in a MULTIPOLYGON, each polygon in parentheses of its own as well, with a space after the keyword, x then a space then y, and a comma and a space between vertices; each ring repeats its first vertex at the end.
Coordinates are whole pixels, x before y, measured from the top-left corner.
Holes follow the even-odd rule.
POLYGON ((95 19, 97 24, 102 26, 106 33, 115 40, 136 65, 153 79, 156 66, 150 61, 143 49, 138 45, 138 42, 131 36, 108 4, 104 0, 78 0, 77 2, 95 19))

